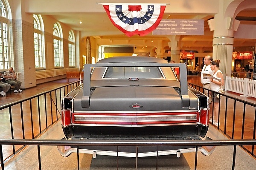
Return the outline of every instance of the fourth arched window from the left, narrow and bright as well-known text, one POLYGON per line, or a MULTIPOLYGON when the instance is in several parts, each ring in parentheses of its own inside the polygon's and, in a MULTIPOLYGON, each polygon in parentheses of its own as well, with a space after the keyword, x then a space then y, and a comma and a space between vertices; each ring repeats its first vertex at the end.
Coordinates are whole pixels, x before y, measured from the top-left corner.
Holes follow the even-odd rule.
POLYGON ((68 56, 69 56, 69 66, 76 66, 75 58, 75 36, 73 31, 70 31, 68 34, 68 56))

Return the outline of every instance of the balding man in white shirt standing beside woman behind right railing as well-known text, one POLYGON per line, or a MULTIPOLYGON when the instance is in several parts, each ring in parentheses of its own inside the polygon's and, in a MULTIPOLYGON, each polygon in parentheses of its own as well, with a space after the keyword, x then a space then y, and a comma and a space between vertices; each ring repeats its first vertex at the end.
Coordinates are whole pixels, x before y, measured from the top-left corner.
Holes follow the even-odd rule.
MULTIPOLYGON (((201 71, 201 83, 203 84, 203 88, 210 89, 210 80, 204 79, 204 77, 212 76, 213 72, 211 70, 211 62, 212 62, 212 56, 207 55, 204 57, 204 67, 201 71)), ((204 90, 204 94, 208 96, 208 91, 204 90)), ((212 102, 212 97, 209 95, 209 103, 212 102)))

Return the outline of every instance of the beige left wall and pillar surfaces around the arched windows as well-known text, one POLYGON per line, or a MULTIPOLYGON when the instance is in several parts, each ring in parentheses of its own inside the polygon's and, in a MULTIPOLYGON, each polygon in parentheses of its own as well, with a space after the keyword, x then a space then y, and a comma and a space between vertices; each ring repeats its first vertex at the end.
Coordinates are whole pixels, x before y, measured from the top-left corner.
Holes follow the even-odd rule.
MULTIPOLYGON (((9 16, 12 18, 10 20, 11 66, 14 67, 15 72, 20 72, 21 88, 34 87, 38 82, 48 82, 49 79, 36 80, 33 14, 25 12, 24 7, 26 4, 24 0, 9 1, 8 7, 9 11, 11 11, 9 16)), ((46 70, 51 70, 54 69, 53 26, 57 20, 48 15, 42 15, 42 19, 44 23, 45 68, 46 70)), ((63 23, 60 23, 60 25, 63 33, 64 68, 69 68, 68 36, 71 28, 63 23)), ((78 37, 78 32, 75 30, 73 32, 75 37, 78 37)), ((76 51, 76 56, 79 56, 79 51, 76 51)), ((53 77, 50 80, 58 78, 63 78, 63 76, 53 77)))

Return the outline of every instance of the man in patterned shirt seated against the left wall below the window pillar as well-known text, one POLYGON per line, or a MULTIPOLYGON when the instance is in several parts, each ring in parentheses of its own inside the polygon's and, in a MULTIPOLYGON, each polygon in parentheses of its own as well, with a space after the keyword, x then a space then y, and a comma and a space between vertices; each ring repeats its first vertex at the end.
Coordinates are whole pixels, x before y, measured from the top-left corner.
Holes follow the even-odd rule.
POLYGON ((4 72, 3 77, 6 79, 6 83, 15 86, 15 93, 22 92, 22 90, 20 90, 21 82, 16 79, 16 75, 12 67, 10 67, 8 71, 4 72))

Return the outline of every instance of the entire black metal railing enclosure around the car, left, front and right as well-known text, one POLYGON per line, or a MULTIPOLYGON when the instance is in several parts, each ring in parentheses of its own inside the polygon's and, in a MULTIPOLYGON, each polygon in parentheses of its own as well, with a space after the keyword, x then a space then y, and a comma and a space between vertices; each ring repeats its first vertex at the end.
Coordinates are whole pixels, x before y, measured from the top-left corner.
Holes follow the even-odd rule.
MULTIPOLYGON (((190 83, 189 83, 190 84, 190 83)), ((192 87, 198 88, 199 91, 204 91, 208 89, 204 89, 200 86, 190 84, 192 87)), ((226 136, 228 136, 230 139, 235 140, 212 140, 212 141, 63 141, 63 140, 37 140, 36 138, 43 133, 45 130, 47 130, 48 127, 52 126, 55 122, 58 121, 60 118, 60 115, 58 114, 60 111, 61 106, 61 100, 64 97, 65 94, 67 94, 69 91, 72 91, 76 87, 79 86, 79 81, 70 83, 68 85, 61 86, 60 88, 55 88, 51 91, 46 91, 44 93, 31 96, 27 99, 23 99, 22 101, 17 101, 10 103, 8 105, 4 105, 0 107, 1 114, 4 118, 8 118, 10 121, 10 134, 6 135, 4 138, 6 139, 0 139, 0 161, 1 161, 1 167, 4 169, 4 161, 14 156, 18 151, 20 151, 22 148, 26 147, 27 145, 37 145, 38 146, 38 164, 39 169, 41 169, 41 155, 40 155, 40 146, 41 145, 75 145, 77 146, 77 149, 79 149, 78 146, 83 145, 111 145, 111 146, 143 146, 143 145, 151 145, 151 146, 160 146, 160 145, 193 145, 196 146, 196 152, 195 152, 195 169, 197 168, 197 148, 198 146, 204 145, 233 145, 234 146, 234 155, 233 155, 233 165, 232 168, 234 169, 235 166, 235 159, 236 159, 236 147, 240 146, 247 150, 248 153, 250 153, 252 156, 256 157, 254 154, 254 146, 256 144, 255 140, 255 132, 256 132, 256 105, 250 102, 243 101, 241 99, 236 99, 231 96, 227 96, 225 94, 220 94, 222 96, 219 105, 220 109, 218 111, 219 113, 219 119, 218 122, 221 123, 217 128, 221 130, 226 136), (234 108, 233 112, 227 112, 227 103, 233 101, 234 108), (222 105, 225 103, 225 105, 222 105), (240 105, 244 105, 244 108, 241 111, 236 111, 236 105, 237 103, 240 103, 240 105), (29 105, 29 107, 23 107, 23 105, 29 105), (250 122, 247 118, 247 112, 248 106, 252 107, 250 108, 250 111, 254 109, 254 114, 250 113, 250 122), (28 109, 29 108, 29 109, 28 109), (233 113, 229 115, 230 113, 233 113), (230 119, 231 122, 230 122, 230 119), (237 121, 237 117, 239 117, 239 120, 242 120, 242 127, 235 127, 235 121, 237 121), (251 118, 254 119, 251 119, 251 118), (20 129, 22 129, 22 139, 17 139, 17 134, 15 134, 14 131, 14 122, 20 120, 20 129), (26 118, 26 120, 25 120, 26 118), (220 118, 224 118, 221 119, 220 118), (26 126, 25 126, 26 122, 26 126), (42 123, 44 122, 44 123, 42 123), (248 139, 245 139, 244 137, 244 131, 247 130, 247 126, 253 127, 253 131, 251 132, 251 137, 247 137, 248 139), (26 128, 25 128, 26 127, 26 128), (237 136, 237 132, 235 133, 235 130, 241 130, 241 136, 237 136), (5 156, 4 151, 5 147, 11 146, 12 147, 12 154, 11 156, 5 156), (20 146, 16 148, 15 146, 20 146)), ((212 91, 212 93, 217 93, 212 91)), ((212 112, 213 116, 213 112, 212 112)), ((5 121, 6 121, 5 119, 5 121)), ((247 130, 248 131, 248 130, 247 130)), ((3 138, 3 137, 1 137, 3 138)), ((79 154, 78 156, 78 169, 79 169, 79 154)), ((117 157, 118 159, 118 157, 117 157)), ((136 162, 137 166, 137 162, 136 162)), ((157 168, 157 165, 156 165, 157 168)), ((118 164, 117 164, 118 169, 118 164)))

